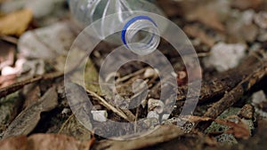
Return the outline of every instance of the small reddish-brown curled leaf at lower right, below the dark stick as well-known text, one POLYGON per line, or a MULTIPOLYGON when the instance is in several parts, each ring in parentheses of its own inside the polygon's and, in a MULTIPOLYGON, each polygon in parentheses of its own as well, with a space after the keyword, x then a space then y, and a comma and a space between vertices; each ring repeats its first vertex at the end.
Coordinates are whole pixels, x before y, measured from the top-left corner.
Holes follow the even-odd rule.
POLYGON ((232 134, 236 138, 247 139, 250 137, 250 130, 248 129, 247 125, 244 122, 242 122, 240 119, 238 123, 225 121, 222 119, 216 119, 214 122, 229 126, 230 129, 226 130, 225 132, 232 134))

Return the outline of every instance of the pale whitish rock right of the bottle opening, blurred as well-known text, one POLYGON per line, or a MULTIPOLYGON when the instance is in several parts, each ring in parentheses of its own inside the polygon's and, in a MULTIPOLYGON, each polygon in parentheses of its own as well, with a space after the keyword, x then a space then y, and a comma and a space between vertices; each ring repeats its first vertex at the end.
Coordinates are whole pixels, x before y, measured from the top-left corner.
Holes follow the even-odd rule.
POLYGON ((243 43, 217 43, 211 50, 211 55, 204 60, 206 67, 213 66, 223 72, 237 67, 239 61, 246 55, 247 45, 243 43))

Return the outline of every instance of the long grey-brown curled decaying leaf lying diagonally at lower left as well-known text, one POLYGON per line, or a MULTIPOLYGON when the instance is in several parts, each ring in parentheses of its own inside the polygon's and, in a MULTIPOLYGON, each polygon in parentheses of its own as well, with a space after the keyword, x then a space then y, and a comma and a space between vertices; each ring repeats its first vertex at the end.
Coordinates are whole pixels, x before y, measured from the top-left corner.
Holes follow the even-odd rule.
POLYGON ((42 112, 50 111, 58 105, 58 93, 55 87, 45 92, 35 104, 23 110, 4 132, 4 138, 27 135, 34 130, 42 112))

